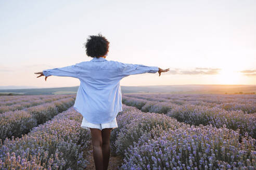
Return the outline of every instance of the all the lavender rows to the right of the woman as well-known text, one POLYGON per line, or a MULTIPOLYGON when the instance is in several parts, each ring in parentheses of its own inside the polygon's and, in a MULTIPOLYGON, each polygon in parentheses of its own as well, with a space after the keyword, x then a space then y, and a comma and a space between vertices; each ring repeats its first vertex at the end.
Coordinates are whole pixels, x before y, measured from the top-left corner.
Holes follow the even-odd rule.
POLYGON ((256 95, 124 94, 122 169, 255 169, 256 95), (124 125, 125 124, 125 125, 124 125))

